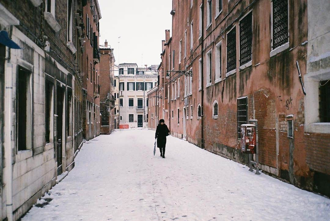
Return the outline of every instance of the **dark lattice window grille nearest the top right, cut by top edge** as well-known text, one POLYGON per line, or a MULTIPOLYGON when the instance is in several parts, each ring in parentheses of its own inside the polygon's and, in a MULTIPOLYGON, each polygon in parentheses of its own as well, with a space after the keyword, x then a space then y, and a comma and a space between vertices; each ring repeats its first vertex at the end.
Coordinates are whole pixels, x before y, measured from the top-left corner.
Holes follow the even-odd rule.
POLYGON ((288 42, 288 1, 273 0, 273 49, 288 42))

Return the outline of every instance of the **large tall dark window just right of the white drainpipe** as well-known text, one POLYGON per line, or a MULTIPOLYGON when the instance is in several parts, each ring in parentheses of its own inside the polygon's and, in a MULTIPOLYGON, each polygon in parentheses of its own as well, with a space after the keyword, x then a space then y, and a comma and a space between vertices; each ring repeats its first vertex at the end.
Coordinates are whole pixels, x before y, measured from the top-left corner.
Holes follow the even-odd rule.
POLYGON ((31 72, 19 67, 16 85, 17 150, 32 148, 31 72))

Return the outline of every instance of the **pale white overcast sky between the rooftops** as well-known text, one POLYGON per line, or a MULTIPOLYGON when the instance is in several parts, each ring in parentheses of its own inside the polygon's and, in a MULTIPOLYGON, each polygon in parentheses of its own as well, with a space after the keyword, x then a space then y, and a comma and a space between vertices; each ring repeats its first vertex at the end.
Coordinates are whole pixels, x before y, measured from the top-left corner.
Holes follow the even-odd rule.
POLYGON ((102 16, 99 44, 104 45, 107 39, 108 47, 110 45, 114 49, 116 64, 137 63, 139 67, 158 65, 165 29, 172 29, 172 1, 98 1, 102 16))

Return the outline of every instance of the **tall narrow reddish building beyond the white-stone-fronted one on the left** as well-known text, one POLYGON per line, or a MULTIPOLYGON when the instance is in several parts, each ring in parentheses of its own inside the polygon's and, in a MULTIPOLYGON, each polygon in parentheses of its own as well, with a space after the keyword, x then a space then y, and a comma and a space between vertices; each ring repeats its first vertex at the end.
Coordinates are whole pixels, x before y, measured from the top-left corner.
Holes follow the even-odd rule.
POLYGON ((83 82, 83 136, 86 140, 100 135, 100 52, 99 52, 99 19, 100 7, 97 0, 87 1, 83 7, 85 39, 82 54, 83 82))

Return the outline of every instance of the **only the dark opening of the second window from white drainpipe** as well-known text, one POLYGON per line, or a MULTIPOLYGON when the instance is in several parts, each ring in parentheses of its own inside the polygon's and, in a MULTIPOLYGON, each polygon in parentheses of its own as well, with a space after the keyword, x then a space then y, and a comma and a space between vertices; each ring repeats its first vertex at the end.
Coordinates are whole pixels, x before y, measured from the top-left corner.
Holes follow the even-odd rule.
POLYGON ((46 81, 45 84, 45 139, 46 143, 49 143, 50 137, 50 116, 51 110, 51 97, 53 94, 53 84, 50 81, 46 81))

